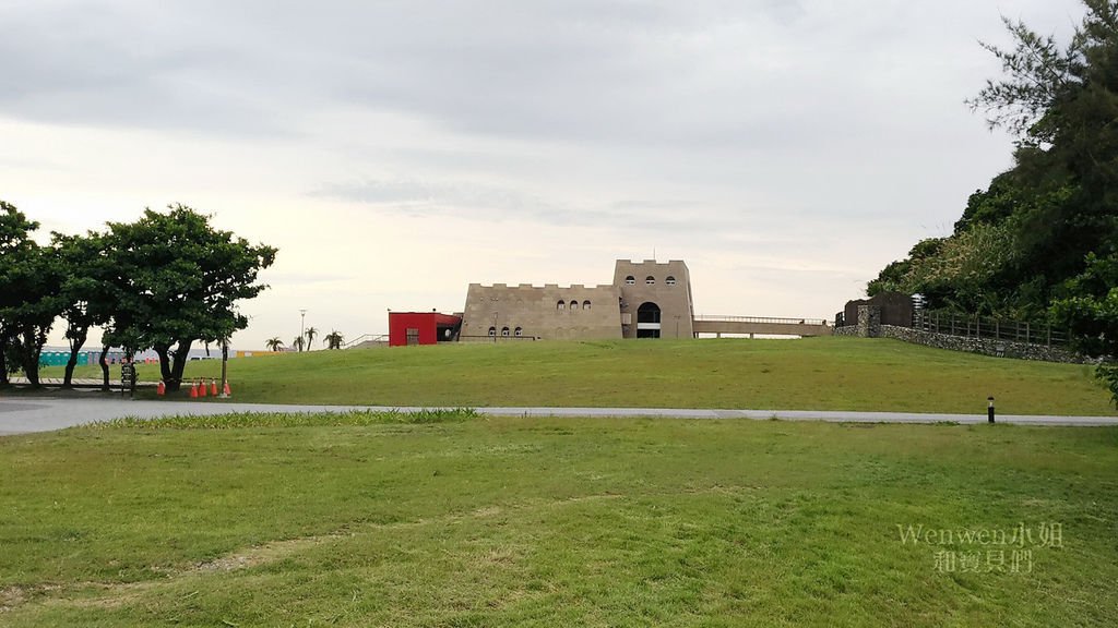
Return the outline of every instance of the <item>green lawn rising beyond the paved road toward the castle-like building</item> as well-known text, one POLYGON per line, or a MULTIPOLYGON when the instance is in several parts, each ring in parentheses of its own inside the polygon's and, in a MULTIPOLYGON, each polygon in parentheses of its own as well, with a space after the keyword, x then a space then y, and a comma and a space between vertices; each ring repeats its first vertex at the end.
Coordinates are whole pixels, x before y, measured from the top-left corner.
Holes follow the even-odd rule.
MULTIPOLYGON (((847 337, 314 351, 231 360, 229 370, 235 400, 277 403, 984 413, 993 394, 1004 413, 1116 413, 1090 367, 847 337)), ((140 375, 159 379, 154 367, 140 375)), ((187 375, 219 377, 220 362, 191 362, 187 375)))

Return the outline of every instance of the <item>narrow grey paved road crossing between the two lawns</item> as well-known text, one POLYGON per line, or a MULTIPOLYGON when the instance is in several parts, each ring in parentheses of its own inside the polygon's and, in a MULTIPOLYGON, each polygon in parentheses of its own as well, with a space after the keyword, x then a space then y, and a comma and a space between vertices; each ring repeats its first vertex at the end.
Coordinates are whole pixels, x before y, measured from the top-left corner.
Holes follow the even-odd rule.
MULTIPOLYGON (((269 403, 218 403, 133 401, 88 393, 66 399, 0 398, 0 435, 50 431, 120 417, 207 416, 229 412, 345 412, 349 410, 417 410, 378 406, 284 406, 269 403)), ((809 410, 703 410, 679 408, 479 408, 490 416, 513 417, 672 417, 690 419, 771 419, 790 421, 934 424, 955 421, 980 424, 985 415, 923 415, 904 412, 830 412, 809 410)), ((1118 417, 997 417, 998 422, 1041 426, 1118 426, 1118 417)))

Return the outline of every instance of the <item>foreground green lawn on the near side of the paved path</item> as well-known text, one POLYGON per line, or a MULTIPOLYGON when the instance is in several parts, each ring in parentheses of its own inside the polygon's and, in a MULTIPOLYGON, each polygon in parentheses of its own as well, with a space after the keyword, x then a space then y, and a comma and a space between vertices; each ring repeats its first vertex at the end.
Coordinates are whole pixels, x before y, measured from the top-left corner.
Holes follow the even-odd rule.
POLYGON ((0 438, 0 624, 1118 625, 1115 428, 468 415, 0 438))

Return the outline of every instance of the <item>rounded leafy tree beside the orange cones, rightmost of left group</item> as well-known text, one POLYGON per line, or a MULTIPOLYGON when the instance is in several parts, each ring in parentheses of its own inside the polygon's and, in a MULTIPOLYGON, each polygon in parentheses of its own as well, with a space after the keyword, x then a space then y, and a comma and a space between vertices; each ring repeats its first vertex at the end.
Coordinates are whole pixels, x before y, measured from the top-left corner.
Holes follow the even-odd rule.
POLYGON ((179 389, 193 342, 228 341, 248 325, 237 302, 267 287, 256 279, 275 260, 275 248, 216 230, 209 219, 174 204, 108 223, 120 301, 106 335, 129 353, 153 349, 169 391, 179 389))

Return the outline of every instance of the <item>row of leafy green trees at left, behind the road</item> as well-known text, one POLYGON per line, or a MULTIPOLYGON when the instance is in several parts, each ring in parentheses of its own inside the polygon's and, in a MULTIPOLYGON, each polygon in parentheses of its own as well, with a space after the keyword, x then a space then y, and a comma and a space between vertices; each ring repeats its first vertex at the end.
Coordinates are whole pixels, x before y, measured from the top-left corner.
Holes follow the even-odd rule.
MULTIPOLYGON (((108 346, 153 349, 177 390, 193 342, 227 341, 248 325, 236 303, 267 286, 257 275, 276 249, 214 229, 209 217, 177 204, 146 210, 104 232, 31 239, 38 223, 0 201, 0 373, 22 370, 38 384, 39 354, 56 318, 66 323, 66 383, 89 329, 108 346)), ((107 382, 107 371, 105 375, 107 382)))

